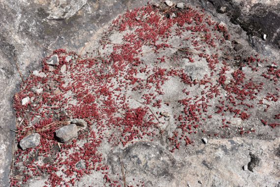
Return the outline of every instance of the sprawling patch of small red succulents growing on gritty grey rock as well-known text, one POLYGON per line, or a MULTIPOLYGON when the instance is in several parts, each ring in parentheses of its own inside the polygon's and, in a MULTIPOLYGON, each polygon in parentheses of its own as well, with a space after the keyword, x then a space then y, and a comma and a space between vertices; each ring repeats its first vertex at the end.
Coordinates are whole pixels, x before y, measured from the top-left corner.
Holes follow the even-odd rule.
MULTIPOLYGON (((227 29, 212 21, 203 10, 188 7, 184 10, 173 8, 161 11, 147 5, 129 10, 112 22, 109 31, 100 41, 103 50, 112 47, 112 52, 106 58, 82 58, 74 52, 68 53, 61 49, 54 51, 59 57, 59 64, 53 67, 47 64, 48 58, 44 59, 42 72, 47 77, 30 75, 23 90, 14 96, 16 115, 23 119, 17 127, 17 141, 30 132, 41 135, 38 147, 15 153, 14 167, 23 171, 23 182, 27 182, 30 176, 47 173, 47 186, 70 186, 83 175, 100 171, 106 183, 121 186, 122 180, 110 179, 109 167, 102 163, 102 154, 98 148, 103 142, 112 146, 126 146, 135 141, 152 141, 162 136, 167 128, 162 127, 165 122, 159 116, 159 111, 163 105, 171 105, 163 99, 163 87, 170 78, 177 78, 184 84, 184 98, 178 99, 176 103, 180 106, 179 112, 170 116, 174 119, 167 137, 171 152, 180 149, 182 145, 192 144, 192 137, 196 134, 206 133, 203 125, 214 116, 222 119, 222 129, 234 128, 233 123, 224 118, 226 114, 248 120, 250 111, 257 106, 254 100, 259 98, 260 92, 264 92, 261 78, 271 79, 273 84, 277 84, 279 70, 269 68, 257 81, 244 70, 233 70, 232 64, 221 60, 222 47, 229 38, 227 29), (167 16, 171 13, 176 16, 167 16), (123 43, 111 43, 109 35, 115 32, 124 33, 123 43), (173 37, 181 38, 179 46, 182 48, 170 44, 173 37), (186 44, 191 45, 193 51, 185 50, 186 44), (156 62, 145 63, 140 60, 145 56, 143 46, 148 46, 154 54, 159 55, 156 62), (170 57, 160 54, 174 48, 183 51, 191 63, 197 63, 197 59, 205 62, 210 74, 196 80, 183 66, 166 66, 170 57), (217 53, 209 54, 209 50, 217 53), (76 58, 68 62, 67 56, 76 58), (61 73, 63 65, 66 65, 66 72, 61 73), (146 78, 141 78, 139 74, 144 74, 146 78), (190 93, 188 89, 191 87, 199 88, 200 93, 190 93), (31 90, 34 88, 43 88, 43 92, 33 93, 31 90), (140 94, 141 100, 137 101, 140 106, 131 105, 131 92, 140 94), (23 106, 21 100, 27 96, 32 98, 32 102, 23 106), (215 100, 219 104, 213 104, 215 100), (61 145, 60 151, 55 151, 57 142, 54 131, 58 126, 47 129, 46 126, 69 118, 84 119, 88 124, 87 130, 80 131, 76 140, 61 145), (35 156, 26 161, 32 154, 35 156), (40 161, 44 158, 53 161, 40 161), (84 162, 84 168, 76 166, 81 161, 84 162)), ((251 68, 250 72, 259 71, 256 62, 261 63, 261 60, 250 57, 243 66, 251 68)), ((261 99, 277 102, 278 98, 279 94, 275 92, 267 93, 261 99)), ((263 105, 261 99, 258 104, 260 107, 263 105)), ((274 119, 279 119, 279 114, 274 119)), ((265 121, 262 123, 267 125, 265 121)), ((273 128, 277 125, 273 122, 270 124, 273 128)), ((249 133, 243 127, 239 131, 240 134, 249 133)), ((215 133, 214 136, 219 134, 215 133)), ((11 185, 20 184, 11 178, 11 185)))

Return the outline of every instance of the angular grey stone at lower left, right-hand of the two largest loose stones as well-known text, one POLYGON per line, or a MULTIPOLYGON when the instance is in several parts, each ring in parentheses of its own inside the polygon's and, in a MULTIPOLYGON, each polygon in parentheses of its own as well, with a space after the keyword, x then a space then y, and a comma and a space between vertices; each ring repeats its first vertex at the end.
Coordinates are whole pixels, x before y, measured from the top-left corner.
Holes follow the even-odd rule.
POLYGON ((76 124, 62 126, 56 130, 56 137, 62 143, 67 142, 76 136, 78 136, 78 127, 76 124))

